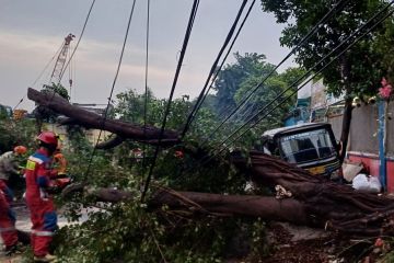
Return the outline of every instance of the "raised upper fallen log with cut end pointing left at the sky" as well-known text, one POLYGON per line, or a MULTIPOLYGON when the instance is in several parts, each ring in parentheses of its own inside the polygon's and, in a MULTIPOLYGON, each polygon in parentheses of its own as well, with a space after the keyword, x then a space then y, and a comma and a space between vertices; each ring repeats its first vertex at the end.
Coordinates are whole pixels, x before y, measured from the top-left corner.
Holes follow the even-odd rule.
MULTIPOLYGON (((134 125, 118 119, 104 118, 102 115, 71 105, 67 100, 53 92, 39 92, 28 88, 27 98, 35 101, 40 106, 45 106, 71 118, 67 121, 69 123, 78 123, 88 128, 107 130, 119 137, 134 139, 144 144, 157 145, 159 142, 160 128, 148 126, 144 129, 140 125, 134 125)), ((179 139, 176 132, 164 132, 161 145, 172 146, 178 142, 179 139)))

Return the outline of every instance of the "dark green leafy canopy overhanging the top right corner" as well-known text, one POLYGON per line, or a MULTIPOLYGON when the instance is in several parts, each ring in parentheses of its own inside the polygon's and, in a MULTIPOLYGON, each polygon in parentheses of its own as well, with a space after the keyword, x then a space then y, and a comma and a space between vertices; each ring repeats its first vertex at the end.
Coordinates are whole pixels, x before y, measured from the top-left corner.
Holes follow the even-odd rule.
MULTIPOLYGON (((286 24, 280 43, 290 48, 296 47, 337 2, 336 0, 262 0, 263 10, 273 12, 278 23, 286 24)), ((308 44, 298 49, 296 61, 305 69, 312 69, 347 36, 376 14, 385 2, 382 0, 345 1, 341 4, 343 10, 339 9, 333 18, 321 24, 308 44)), ((373 22, 379 19, 381 16, 373 22)), ((376 37, 385 34, 387 23, 381 24, 368 34, 322 72, 328 92, 339 95, 345 91, 349 96, 376 93, 381 78, 387 72, 387 67, 381 62, 383 54, 374 46, 376 37)), ((323 65, 320 65, 316 70, 323 65)))

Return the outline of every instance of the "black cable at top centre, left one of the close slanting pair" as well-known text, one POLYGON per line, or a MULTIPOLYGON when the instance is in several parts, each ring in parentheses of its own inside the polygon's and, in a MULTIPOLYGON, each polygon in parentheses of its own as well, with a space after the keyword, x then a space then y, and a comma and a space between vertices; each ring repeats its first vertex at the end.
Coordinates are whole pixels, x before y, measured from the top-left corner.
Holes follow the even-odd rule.
POLYGON ((207 89, 207 87, 208 87, 209 80, 211 79, 212 75, 213 75, 215 71, 217 70, 217 66, 218 66, 219 59, 220 59, 221 55, 223 54, 227 45, 229 44, 232 35, 234 34, 235 27, 236 27, 236 25, 237 25, 237 22, 240 21, 241 14, 242 14, 245 5, 246 5, 246 2, 247 2, 247 0, 243 0, 242 4, 241 4, 241 7, 240 7, 240 10, 239 10, 239 12, 237 12, 237 14, 236 14, 236 18, 235 18, 233 24, 231 25, 231 28, 230 28, 230 31, 229 31, 225 39, 224 39, 224 43, 223 43, 222 47, 220 48, 219 54, 218 54, 217 58, 215 59, 215 61, 213 61, 213 64, 212 64, 212 66, 211 66, 211 69, 210 69, 209 75, 208 75, 208 78, 207 78, 207 80, 206 80, 206 82, 205 82, 205 84, 204 84, 204 88, 202 88, 202 90, 201 90, 201 92, 200 92, 200 94, 199 94, 199 96, 198 96, 198 99, 197 99, 197 101, 196 101, 196 104, 194 105, 190 114, 189 114, 188 117, 187 117, 185 127, 184 127, 184 129, 183 129, 183 132, 182 132, 182 138, 183 138, 183 137, 185 136, 185 134, 187 133, 187 130, 188 130, 188 128, 189 128, 189 126, 190 126, 190 124, 192 124, 192 122, 193 122, 193 119, 194 119, 194 117, 195 117, 195 115, 196 115, 196 112, 198 111, 198 107, 199 107, 198 105, 199 105, 199 103, 202 101, 202 96, 204 96, 205 91, 206 91, 206 89, 207 89))

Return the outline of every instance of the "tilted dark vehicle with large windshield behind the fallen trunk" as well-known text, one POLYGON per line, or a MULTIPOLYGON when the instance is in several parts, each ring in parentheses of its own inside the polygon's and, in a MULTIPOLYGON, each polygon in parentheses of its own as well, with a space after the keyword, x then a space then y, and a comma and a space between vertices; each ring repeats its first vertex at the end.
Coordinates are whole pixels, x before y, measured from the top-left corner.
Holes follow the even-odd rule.
POLYGON ((338 146, 331 124, 308 123, 266 130, 259 150, 312 174, 341 176, 338 146))

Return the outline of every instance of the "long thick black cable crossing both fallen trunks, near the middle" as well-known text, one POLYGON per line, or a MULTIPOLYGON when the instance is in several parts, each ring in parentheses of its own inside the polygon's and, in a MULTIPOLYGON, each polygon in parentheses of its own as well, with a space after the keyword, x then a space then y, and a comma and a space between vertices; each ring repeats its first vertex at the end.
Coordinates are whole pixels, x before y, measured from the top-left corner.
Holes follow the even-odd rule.
POLYGON ((165 108, 165 112, 164 112, 163 124, 162 124, 162 127, 161 127, 161 130, 160 130, 158 145, 155 147, 152 164, 150 167, 149 174, 147 176, 147 180, 146 180, 146 183, 144 183, 144 186, 143 186, 143 192, 142 192, 142 195, 141 195, 141 202, 143 202, 144 196, 147 194, 149 183, 151 181, 153 169, 154 169, 154 165, 155 165, 155 161, 158 159, 160 144, 161 144, 161 140, 162 140, 162 137, 163 137, 163 134, 164 134, 165 124, 166 124, 166 117, 167 117, 167 115, 170 113, 172 98, 174 95, 176 82, 177 82, 177 79, 178 79, 178 76, 179 76, 179 72, 181 72, 182 62, 183 62, 183 59, 184 59, 184 56, 185 56, 185 53, 186 53, 186 47, 187 47, 190 34, 192 34, 192 28, 193 28, 193 24, 194 24, 194 21, 195 21, 195 18, 196 18, 198 5, 199 5, 199 0, 195 0, 194 3, 193 3, 193 7, 192 7, 192 12, 190 12, 190 16, 189 16, 188 24, 187 24, 185 38, 184 38, 184 43, 183 43, 182 50, 181 50, 179 60, 178 60, 178 64, 177 64, 177 67, 176 67, 174 81, 173 81, 173 84, 172 84, 172 88, 171 88, 169 102, 167 102, 167 105, 166 105, 166 108, 165 108))

